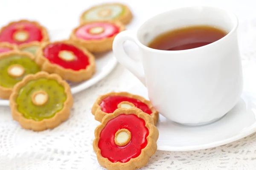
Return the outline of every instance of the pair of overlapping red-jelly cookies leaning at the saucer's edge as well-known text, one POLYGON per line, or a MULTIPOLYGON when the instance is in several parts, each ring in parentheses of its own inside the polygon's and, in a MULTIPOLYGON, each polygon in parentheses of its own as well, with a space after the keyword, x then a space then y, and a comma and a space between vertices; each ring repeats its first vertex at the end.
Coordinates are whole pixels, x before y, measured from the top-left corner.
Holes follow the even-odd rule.
POLYGON ((157 150, 158 112, 142 96, 127 92, 99 96, 92 107, 96 127, 93 150, 108 170, 145 166, 157 150))

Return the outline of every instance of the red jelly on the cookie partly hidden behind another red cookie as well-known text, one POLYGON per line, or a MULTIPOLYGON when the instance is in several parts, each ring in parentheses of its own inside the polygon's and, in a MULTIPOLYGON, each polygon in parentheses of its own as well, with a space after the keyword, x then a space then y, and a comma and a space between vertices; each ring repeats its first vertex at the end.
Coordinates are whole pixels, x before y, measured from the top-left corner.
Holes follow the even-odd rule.
POLYGON ((105 113, 113 113, 117 109, 117 105, 123 101, 133 103, 136 108, 139 108, 145 113, 152 113, 150 108, 148 108, 148 105, 146 105, 145 103, 141 102, 140 100, 125 96, 108 96, 102 100, 100 107, 105 113))

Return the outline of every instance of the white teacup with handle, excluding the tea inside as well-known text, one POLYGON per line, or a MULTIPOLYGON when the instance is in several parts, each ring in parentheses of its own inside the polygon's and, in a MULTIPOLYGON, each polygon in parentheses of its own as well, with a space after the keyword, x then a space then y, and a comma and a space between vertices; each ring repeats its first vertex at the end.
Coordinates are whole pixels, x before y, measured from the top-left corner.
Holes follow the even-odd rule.
POLYGON ((129 31, 119 33, 113 52, 147 87, 150 101, 163 116, 181 124, 202 125, 224 116, 240 98, 242 70, 237 27, 237 17, 223 9, 174 9, 147 20, 136 35, 129 31), (161 33, 195 25, 217 26, 229 33, 209 45, 188 50, 162 51, 146 46, 161 33), (125 53, 126 40, 138 46, 141 62, 125 53))

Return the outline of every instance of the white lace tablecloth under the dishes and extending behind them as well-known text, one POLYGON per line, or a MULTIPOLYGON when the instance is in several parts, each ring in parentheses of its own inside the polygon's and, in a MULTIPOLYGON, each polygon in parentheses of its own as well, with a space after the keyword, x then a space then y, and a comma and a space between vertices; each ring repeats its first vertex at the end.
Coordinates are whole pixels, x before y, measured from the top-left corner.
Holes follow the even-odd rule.
MULTIPOLYGON (((10 20, 28 18, 49 29, 73 28, 81 12, 100 0, 0 0, 0 26, 10 20)), ((255 62, 256 3, 254 0, 122 0, 134 12, 128 29, 136 30, 143 20, 181 6, 209 5, 229 8, 239 17, 239 44, 243 65, 255 62)), ((100 94, 125 91, 140 83, 121 65, 96 85, 74 96, 70 119, 53 130, 24 130, 12 120, 10 109, 0 107, 0 170, 102 170, 93 152, 98 122, 90 113, 100 94)), ((146 169, 161 170, 255 170, 256 134, 207 150, 157 151, 146 169)))

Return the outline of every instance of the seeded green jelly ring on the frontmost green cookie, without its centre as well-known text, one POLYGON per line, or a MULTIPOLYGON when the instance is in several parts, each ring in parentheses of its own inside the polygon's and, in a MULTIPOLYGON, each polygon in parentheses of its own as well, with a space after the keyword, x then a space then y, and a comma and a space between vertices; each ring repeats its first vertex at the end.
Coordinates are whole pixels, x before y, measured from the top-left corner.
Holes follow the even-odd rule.
POLYGON ((16 98, 17 110, 26 119, 41 121, 52 118, 63 108, 67 99, 64 91, 64 87, 54 79, 32 80, 20 89, 16 98), (44 105, 38 106, 32 102, 32 96, 37 91, 45 91, 48 94, 48 100, 44 105))

